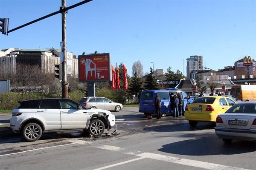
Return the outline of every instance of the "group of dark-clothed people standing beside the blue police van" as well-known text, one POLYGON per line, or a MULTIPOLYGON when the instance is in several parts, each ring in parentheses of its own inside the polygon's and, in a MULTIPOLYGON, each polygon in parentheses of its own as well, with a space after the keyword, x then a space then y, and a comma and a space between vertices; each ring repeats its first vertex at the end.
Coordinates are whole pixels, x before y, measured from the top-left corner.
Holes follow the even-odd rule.
MULTIPOLYGON (((182 108, 183 108, 182 96, 179 93, 177 93, 177 95, 176 94, 174 95, 173 93, 171 93, 170 99, 171 99, 171 112, 173 112, 173 117, 182 116, 182 108)), ((161 113, 160 113, 161 99, 157 93, 155 94, 154 106, 157 113, 156 119, 161 119, 161 113)))

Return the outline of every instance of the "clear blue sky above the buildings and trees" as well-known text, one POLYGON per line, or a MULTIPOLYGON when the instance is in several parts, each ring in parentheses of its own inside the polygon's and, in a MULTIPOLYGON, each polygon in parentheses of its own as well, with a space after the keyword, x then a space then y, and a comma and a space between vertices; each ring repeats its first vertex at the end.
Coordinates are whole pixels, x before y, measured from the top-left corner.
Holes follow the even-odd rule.
MULTIPOLYGON (((71 6, 82 0, 66 0, 71 6)), ((61 0, 0 0, 9 30, 58 11, 61 0)), ((61 14, 0 34, 0 49, 60 49, 61 14)), ((256 59, 256 0, 93 0, 67 13, 67 51, 111 53, 131 75, 169 66, 186 75, 186 58, 202 55, 218 70, 244 56, 256 59)))

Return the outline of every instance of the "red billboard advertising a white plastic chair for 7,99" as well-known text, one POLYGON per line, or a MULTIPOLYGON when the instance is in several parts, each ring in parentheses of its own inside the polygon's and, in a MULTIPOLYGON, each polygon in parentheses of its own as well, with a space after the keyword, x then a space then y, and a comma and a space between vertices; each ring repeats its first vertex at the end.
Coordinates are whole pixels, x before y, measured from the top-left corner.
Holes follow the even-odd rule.
POLYGON ((78 56, 79 82, 111 81, 110 53, 78 56))

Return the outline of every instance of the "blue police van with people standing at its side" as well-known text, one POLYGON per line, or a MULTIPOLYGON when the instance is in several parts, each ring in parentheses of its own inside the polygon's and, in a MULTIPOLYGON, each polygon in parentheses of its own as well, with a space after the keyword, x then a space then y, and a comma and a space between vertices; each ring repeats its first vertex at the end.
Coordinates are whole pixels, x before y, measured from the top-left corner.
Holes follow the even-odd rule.
POLYGON ((171 112, 171 96, 179 93, 183 98, 183 113, 185 112, 186 104, 190 104, 193 102, 192 99, 186 94, 185 91, 180 91, 177 88, 167 88, 166 90, 151 90, 151 91, 143 91, 140 95, 140 107, 139 112, 144 113, 145 116, 151 115, 152 113, 156 113, 154 107, 154 97, 155 94, 161 99, 161 109, 160 113, 162 117, 166 116, 166 114, 172 114, 171 112))

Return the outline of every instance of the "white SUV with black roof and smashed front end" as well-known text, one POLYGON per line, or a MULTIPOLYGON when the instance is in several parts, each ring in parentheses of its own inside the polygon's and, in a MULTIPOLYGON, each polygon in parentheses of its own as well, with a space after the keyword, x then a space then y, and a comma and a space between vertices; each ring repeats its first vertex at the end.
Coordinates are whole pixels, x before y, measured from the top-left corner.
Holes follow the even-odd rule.
POLYGON ((40 139, 42 133, 84 130, 101 136, 115 125, 115 116, 106 110, 87 109, 71 99, 34 99, 19 101, 12 111, 10 127, 27 141, 40 139))

